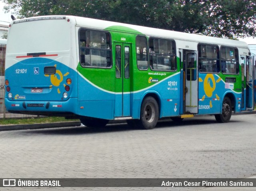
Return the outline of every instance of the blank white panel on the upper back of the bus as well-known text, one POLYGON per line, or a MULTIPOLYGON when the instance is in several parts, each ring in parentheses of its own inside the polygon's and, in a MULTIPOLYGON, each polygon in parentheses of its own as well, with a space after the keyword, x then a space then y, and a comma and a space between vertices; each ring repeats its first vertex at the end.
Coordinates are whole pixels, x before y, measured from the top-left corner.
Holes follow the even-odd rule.
POLYGON ((40 20, 12 25, 8 54, 60 52, 70 50, 70 24, 66 20, 40 20))

